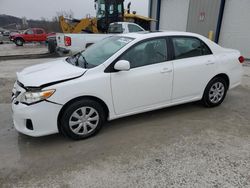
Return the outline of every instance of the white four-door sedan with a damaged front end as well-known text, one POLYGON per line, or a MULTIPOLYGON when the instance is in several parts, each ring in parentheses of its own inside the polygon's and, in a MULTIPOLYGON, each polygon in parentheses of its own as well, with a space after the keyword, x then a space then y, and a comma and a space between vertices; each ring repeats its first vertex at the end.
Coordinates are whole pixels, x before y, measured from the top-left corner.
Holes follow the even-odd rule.
POLYGON ((17 73, 15 128, 26 135, 96 134, 106 120, 191 101, 220 105, 238 86, 244 58, 186 32, 130 33, 17 73))

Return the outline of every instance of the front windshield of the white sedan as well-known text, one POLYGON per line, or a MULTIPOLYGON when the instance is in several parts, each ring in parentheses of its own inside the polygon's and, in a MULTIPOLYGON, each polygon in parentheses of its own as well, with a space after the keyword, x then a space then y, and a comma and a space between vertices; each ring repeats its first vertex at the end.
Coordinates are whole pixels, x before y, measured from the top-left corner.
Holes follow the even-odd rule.
POLYGON ((104 63, 132 40, 133 38, 121 36, 108 37, 91 45, 85 51, 68 57, 66 61, 82 68, 93 68, 104 63))

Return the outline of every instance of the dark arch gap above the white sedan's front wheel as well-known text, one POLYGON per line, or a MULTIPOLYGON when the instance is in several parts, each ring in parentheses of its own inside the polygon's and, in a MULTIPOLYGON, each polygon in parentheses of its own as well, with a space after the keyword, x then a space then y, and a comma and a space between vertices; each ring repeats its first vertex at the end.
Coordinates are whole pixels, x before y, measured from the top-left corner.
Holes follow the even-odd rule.
POLYGON ((58 117, 57 117, 57 127, 58 127, 58 130, 59 132, 61 132, 61 128, 60 128, 60 117, 62 116, 64 110, 72 103, 76 102, 76 101, 79 101, 79 100, 82 100, 82 99, 90 99, 90 100, 94 100, 96 102, 98 102, 99 104, 101 104, 101 106, 103 107, 104 111, 105 111, 105 117, 106 117, 106 120, 107 118, 109 117, 109 108, 108 108, 108 105, 100 98, 98 97, 95 97, 95 96, 90 96, 90 95, 85 95, 85 96, 79 96, 79 97, 76 97, 76 98, 73 98, 71 99, 70 101, 68 101, 67 103, 65 103, 62 107, 62 109, 60 110, 59 114, 58 114, 58 117))

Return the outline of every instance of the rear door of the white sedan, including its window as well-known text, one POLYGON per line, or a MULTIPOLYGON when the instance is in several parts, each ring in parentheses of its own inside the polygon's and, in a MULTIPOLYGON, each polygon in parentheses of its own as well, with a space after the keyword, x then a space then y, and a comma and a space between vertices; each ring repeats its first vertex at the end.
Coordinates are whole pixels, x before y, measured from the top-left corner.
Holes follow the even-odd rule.
POLYGON ((216 62, 209 47, 196 37, 173 36, 173 102, 202 95, 213 77, 216 62))

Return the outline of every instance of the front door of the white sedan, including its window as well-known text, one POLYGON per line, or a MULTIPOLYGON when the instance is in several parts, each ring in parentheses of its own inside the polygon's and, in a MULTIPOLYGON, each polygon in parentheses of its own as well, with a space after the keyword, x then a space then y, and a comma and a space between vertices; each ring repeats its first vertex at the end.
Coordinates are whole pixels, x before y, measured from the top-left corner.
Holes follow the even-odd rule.
POLYGON ((131 69, 111 73, 117 115, 136 113, 170 102, 173 65, 167 59, 165 38, 141 42, 119 58, 129 61, 131 69))

